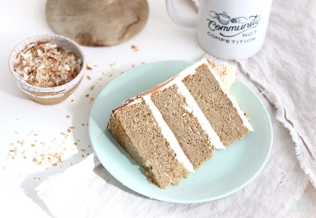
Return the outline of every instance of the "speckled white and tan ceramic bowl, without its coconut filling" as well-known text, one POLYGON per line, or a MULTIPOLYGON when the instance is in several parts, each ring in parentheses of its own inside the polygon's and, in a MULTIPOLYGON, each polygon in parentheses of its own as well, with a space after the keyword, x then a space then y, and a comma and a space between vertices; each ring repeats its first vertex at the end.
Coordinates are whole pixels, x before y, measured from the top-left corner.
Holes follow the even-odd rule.
POLYGON ((28 38, 15 46, 9 57, 9 68, 17 87, 36 103, 45 105, 57 104, 67 99, 67 97, 69 97, 69 95, 75 91, 80 84, 87 67, 86 65, 85 55, 79 45, 70 38, 56 34, 46 34, 28 38), (27 44, 38 41, 51 41, 53 44, 57 44, 58 47, 66 47, 70 49, 77 58, 82 59, 82 68, 79 74, 73 80, 64 85, 47 88, 30 85, 25 80, 21 79, 14 71, 14 61, 17 55, 26 47, 27 44))

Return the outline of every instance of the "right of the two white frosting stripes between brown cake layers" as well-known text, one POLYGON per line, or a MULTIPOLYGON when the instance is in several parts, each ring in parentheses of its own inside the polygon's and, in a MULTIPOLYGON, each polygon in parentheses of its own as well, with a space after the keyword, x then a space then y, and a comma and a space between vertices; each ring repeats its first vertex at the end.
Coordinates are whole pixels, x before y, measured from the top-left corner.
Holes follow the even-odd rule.
POLYGON ((205 115, 203 114, 200 107, 197 105, 196 101, 194 100, 193 96, 190 94, 189 90, 185 87, 182 81, 177 81, 176 85, 178 86, 178 91, 185 97, 185 103, 187 106, 185 108, 189 112, 192 112, 193 116, 195 116, 200 123, 202 129, 205 131, 205 133, 209 136, 211 144, 216 149, 225 149, 225 146, 223 145, 221 139, 217 135, 217 133, 214 131, 212 126, 210 125, 210 122, 207 120, 205 115))

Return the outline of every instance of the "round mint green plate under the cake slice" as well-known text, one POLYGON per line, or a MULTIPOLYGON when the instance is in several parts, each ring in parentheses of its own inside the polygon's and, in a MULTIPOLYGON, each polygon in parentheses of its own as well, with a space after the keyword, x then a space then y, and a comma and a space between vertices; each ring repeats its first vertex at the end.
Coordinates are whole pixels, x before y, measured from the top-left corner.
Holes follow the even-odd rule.
POLYGON ((253 180, 264 167, 272 148, 272 126, 259 98, 237 80, 231 92, 245 113, 251 115, 254 132, 226 148, 179 186, 161 189, 143 175, 143 168, 130 158, 107 130, 111 110, 142 94, 193 64, 190 61, 161 61, 133 68, 111 81, 94 102, 89 136, 96 156, 106 170, 125 186, 147 197, 176 203, 198 203, 230 195, 253 180))

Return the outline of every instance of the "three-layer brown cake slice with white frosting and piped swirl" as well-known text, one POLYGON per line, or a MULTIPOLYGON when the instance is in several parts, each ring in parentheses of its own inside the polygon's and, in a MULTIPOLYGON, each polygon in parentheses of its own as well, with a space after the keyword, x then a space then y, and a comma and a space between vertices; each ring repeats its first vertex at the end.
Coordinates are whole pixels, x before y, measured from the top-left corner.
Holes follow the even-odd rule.
POLYGON ((235 71, 203 59, 112 111, 108 129, 161 188, 253 131, 229 86, 235 71))

